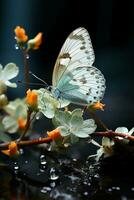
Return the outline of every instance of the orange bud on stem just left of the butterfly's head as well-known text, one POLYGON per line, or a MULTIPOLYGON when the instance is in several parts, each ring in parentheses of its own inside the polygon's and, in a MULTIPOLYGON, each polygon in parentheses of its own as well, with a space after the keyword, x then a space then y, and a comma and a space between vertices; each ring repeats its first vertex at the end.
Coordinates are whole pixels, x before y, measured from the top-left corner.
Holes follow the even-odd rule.
POLYGON ((38 100, 38 94, 30 89, 27 91, 26 103, 30 106, 36 106, 38 100))

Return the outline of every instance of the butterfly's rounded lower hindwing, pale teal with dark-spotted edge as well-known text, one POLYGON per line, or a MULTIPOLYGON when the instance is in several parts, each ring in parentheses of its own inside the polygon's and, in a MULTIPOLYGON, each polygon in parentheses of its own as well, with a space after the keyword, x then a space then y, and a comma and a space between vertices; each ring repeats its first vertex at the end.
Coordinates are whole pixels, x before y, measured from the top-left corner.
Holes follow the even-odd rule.
POLYGON ((105 92, 105 78, 100 70, 90 66, 78 66, 62 76, 57 88, 62 98, 80 105, 100 101, 105 92))

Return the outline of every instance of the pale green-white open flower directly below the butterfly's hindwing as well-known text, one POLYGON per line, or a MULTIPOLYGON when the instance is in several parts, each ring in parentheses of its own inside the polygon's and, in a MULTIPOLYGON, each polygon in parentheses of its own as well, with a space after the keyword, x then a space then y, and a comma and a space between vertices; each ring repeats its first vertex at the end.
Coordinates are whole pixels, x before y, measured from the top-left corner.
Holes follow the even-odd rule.
POLYGON ((78 138, 87 138, 95 131, 96 124, 94 120, 84 120, 82 114, 81 109, 75 109, 73 112, 56 112, 54 124, 58 126, 61 136, 70 136, 71 139, 77 140, 78 138))

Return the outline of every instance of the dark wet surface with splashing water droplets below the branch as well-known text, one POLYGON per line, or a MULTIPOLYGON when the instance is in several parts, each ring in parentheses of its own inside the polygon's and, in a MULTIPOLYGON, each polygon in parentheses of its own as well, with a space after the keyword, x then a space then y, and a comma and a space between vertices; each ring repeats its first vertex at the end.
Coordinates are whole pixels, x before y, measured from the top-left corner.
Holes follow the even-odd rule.
POLYGON ((134 199, 132 160, 95 164, 36 148, 6 160, 9 167, 0 168, 1 200, 134 199))

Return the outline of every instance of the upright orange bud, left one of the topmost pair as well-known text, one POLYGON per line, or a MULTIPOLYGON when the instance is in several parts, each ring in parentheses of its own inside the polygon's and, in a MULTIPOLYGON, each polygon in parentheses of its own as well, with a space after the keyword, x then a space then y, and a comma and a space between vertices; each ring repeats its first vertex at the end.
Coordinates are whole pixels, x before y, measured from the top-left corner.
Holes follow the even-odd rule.
POLYGON ((14 29, 16 40, 17 42, 26 42, 28 40, 28 36, 25 33, 25 29, 21 28, 20 26, 17 26, 14 29))

